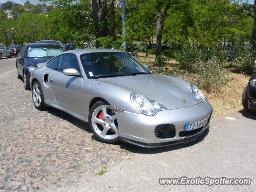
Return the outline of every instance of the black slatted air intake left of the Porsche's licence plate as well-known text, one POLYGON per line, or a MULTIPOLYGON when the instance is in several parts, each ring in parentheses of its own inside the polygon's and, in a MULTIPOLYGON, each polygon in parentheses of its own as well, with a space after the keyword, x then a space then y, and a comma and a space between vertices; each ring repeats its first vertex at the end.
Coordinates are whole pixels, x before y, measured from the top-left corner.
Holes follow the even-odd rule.
POLYGON ((172 124, 158 125, 155 128, 155 135, 160 139, 174 138, 175 126, 172 124))

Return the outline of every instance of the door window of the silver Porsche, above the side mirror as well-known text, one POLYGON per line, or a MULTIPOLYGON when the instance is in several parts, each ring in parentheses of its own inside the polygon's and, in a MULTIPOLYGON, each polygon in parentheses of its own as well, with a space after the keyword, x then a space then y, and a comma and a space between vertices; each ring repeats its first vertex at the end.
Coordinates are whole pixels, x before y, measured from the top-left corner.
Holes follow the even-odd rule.
POLYGON ((61 56, 60 66, 58 68, 59 71, 63 71, 64 69, 74 68, 78 72, 80 72, 78 60, 73 54, 64 54, 61 56))

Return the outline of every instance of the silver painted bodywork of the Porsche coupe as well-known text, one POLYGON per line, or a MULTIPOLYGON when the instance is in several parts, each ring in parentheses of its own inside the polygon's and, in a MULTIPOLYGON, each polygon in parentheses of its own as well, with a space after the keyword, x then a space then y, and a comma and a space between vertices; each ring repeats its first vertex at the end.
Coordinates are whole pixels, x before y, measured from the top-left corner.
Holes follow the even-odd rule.
MULTIPOLYGON (((117 50, 92 49, 71 50, 62 54, 72 53, 76 54, 79 58, 84 53, 104 51, 121 52, 117 50)), ((83 69, 80 59, 78 59, 78 62, 80 69, 83 69)), ((124 111, 124 113, 116 112, 119 136, 137 142, 159 143, 179 140, 181 138, 178 134, 180 131, 185 130, 186 123, 209 118, 212 112, 212 106, 209 102, 200 102, 194 98, 191 94, 190 83, 174 77, 142 74, 137 76, 87 79, 84 70, 81 70, 81 73, 83 78, 73 77, 72 79, 72 76, 65 76, 62 72, 52 70, 44 64, 32 72, 30 84, 33 79, 37 79, 43 85, 42 89, 46 104, 63 110, 86 122, 88 122, 89 105, 92 99, 96 97, 103 98, 113 108, 124 111), (45 86, 44 74, 47 73, 50 74, 48 82, 50 78, 54 78, 54 83, 58 82, 58 85, 53 85, 50 82, 48 88, 45 86), (60 79, 66 80, 60 81, 60 79), (68 82, 66 85, 65 81, 68 82), (74 81, 76 83, 73 85, 72 82, 74 81), (99 85, 92 89, 95 84, 99 85), (70 85, 72 86, 68 90, 70 85), (67 89, 66 91, 65 88, 67 89), (132 92, 144 94, 151 99, 157 100, 168 110, 159 111, 153 116, 141 114, 132 105, 130 100, 132 92), (182 100, 186 100, 186 103, 182 102, 182 100), (154 135, 154 129, 159 124, 174 124, 176 126, 176 137, 168 139, 157 138, 154 135)), ((208 125, 204 128, 207 127, 208 125)))

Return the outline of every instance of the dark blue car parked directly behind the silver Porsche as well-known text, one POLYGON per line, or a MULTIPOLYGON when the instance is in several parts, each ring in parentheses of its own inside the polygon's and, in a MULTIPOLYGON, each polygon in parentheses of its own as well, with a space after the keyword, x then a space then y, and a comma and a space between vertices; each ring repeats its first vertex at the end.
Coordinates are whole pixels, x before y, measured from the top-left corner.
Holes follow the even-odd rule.
POLYGON ((30 89, 29 69, 37 68, 37 64, 44 63, 50 58, 62 53, 62 48, 57 44, 26 44, 20 50, 16 58, 17 78, 23 77, 24 88, 30 89))

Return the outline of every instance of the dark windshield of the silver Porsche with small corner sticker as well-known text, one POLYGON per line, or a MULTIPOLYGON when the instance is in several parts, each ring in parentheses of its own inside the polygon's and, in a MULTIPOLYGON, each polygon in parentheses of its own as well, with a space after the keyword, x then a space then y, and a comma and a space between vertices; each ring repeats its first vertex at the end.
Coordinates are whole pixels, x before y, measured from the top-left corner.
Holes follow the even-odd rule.
POLYGON ((150 74, 140 62, 124 52, 101 52, 80 56, 88 78, 150 74))

